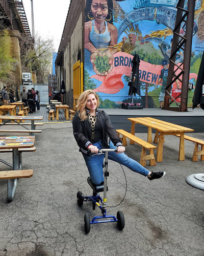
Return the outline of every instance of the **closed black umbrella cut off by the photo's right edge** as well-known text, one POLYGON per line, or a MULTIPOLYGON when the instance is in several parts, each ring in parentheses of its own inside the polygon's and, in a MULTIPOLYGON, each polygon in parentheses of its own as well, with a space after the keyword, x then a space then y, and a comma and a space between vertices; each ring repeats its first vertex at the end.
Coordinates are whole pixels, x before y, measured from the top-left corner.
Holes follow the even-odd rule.
POLYGON ((193 95, 193 109, 200 104, 200 108, 204 110, 204 52, 200 63, 198 77, 193 95))

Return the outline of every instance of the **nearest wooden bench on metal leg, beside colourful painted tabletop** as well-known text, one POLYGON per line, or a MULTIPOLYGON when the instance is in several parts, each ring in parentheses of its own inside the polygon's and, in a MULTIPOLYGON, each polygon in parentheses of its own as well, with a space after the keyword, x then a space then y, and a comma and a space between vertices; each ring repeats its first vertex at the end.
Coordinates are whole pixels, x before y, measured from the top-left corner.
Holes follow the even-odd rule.
POLYGON ((7 181, 7 195, 8 201, 11 202, 14 198, 17 179, 31 178, 33 176, 33 170, 3 170, 0 172, 0 180, 7 181))

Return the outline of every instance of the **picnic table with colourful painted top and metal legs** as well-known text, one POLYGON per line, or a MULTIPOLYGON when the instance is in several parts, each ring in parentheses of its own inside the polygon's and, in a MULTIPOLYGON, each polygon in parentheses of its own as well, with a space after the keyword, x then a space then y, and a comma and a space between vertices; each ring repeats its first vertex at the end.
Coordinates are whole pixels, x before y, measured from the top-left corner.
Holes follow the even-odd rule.
MULTIPOLYGON (((12 149, 13 154, 13 170, 19 170, 19 157, 18 148, 33 147, 35 144, 35 136, 9 136, 0 137, 0 149, 12 149)), ((8 200, 12 201, 16 186, 17 179, 8 179, 8 200)))

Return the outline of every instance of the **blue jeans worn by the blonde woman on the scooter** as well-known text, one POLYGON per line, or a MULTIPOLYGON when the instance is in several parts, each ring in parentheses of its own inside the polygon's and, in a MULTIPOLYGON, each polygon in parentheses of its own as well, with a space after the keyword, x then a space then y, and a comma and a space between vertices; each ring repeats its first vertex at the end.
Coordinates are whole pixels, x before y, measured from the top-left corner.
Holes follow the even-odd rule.
MULTIPOLYGON (((103 148, 101 141, 96 142, 93 145, 97 146, 97 148, 99 149, 103 148)), ((110 141, 110 148, 116 148, 116 146, 114 146, 112 141, 110 141)), ((103 155, 95 155, 92 157, 88 157, 83 154, 83 157, 88 167, 91 181, 96 185, 103 182, 104 181, 103 161, 104 161, 105 155, 103 154, 103 155)), ((120 164, 123 164, 124 166, 133 170, 133 172, 139 173, 143 176, 147 176, 149 173, 149 171, 146 168, 144 168, 137 161, 126 156, 124 153, 117 154, 116 152, 109 152, 109 159, 115 162, 118 162, 120 164)))

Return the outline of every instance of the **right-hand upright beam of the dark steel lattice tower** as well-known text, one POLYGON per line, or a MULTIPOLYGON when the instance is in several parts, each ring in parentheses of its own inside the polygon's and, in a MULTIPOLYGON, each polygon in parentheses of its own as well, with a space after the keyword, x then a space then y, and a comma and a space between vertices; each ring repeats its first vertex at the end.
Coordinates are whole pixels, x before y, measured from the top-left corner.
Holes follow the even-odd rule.
POLYGON ((181 111, 188 111, 188 84, 189 84, 189 73, 190 73, 190 61, 191 61, 191 45, 193 35, 193 24, 194 24, 194 10, 195 0, 188 1, 188 17, 186 24, 186 35, 187 38, 184 51, 184 70, 185 73, 182 79, 182 94, 181 94, 181 111))

